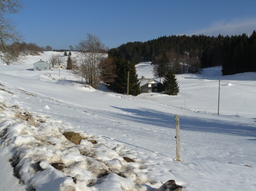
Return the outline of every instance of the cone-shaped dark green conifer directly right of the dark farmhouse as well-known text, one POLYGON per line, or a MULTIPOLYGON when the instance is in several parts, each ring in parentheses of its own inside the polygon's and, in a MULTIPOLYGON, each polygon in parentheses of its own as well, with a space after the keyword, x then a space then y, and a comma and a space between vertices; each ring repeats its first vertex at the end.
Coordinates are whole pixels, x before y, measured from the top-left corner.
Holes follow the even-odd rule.
POLYGON ((178 95, 180 91, 177 79, 175 78, 175 74, 172 69, 170 69, 164 76, 163 88, 167 95, 178 95))

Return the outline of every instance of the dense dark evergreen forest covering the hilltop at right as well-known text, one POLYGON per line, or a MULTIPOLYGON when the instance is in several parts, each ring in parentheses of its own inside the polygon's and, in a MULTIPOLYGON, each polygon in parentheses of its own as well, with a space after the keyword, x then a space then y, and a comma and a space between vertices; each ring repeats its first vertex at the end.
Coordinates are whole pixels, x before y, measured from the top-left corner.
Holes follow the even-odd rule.
POLYGON ((128 62, 133 60, 135 64, 146 61, 159 64, 163 52, 167 52, 170 60, 175 58, 179 63, 185 63, 183 68, 171 67, 176 74, 197 73, 200 68, 214 66, 222 66, 223 75, 256 72, 255 30, 250 36, 162 36, 147 42, 122 44, 110 49, 108 55, 128 62))

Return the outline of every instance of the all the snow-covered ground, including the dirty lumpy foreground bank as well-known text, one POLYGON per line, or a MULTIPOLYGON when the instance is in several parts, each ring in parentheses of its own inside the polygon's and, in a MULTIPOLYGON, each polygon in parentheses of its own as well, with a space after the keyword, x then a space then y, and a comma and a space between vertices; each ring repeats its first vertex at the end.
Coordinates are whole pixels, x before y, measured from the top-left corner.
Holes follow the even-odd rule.
MULTIPOLYGON (((0 64, 0 88, 6 90, 0 90, 0 131, 6 133, 0 138, 0 190, 150 191, 170 179, 184 191, 256 190, 255 73, 221 76, 220 67, 207 68, 202 75, 177 75, 178 96, 134 97, 85 88, 70 81, 67 70, 61 76, 58 69, 32 71, 31 64, 50 53, 28 58, 30 65, 0 64), (221 82, 219 116, 218 80, 250 85, 221 82), (34 126, 16 118, 24 109, 34 126), (180 116, 180 162, 174 115, 180 116), (63 138, 65 131, 97 144, 75 146, 63 138), (116 145, 120 152, 111 150, 116 145), (91 154, 82 155, 84 150, 91 154), (65 168, 56 170, 49 164, 54 162, 65 168), (112 173, 99 177, 104 169, 112 173)), ((136 69, 153 78, 150 63, 136 69)))

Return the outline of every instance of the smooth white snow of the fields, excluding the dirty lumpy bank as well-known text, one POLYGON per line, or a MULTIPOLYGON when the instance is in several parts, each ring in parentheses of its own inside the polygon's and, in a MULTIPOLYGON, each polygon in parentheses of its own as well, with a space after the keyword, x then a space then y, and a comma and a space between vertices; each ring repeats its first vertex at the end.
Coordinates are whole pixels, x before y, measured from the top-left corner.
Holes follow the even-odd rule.
MULTIPOLYGON (((36 59, 45 61, 50 53, 36 59)), ((37 61, 32 59, 30 64, 37 61)), ((131 158, 148 166, 143 173, 149 178, 162 183, 174 179, 184 191, 256 190, 256 87, 250 87, 256 86, 256 73, 221 76, 221 67, 207 68, 202 75, 176 75, 178 96, 148 93, 134 97, 85 88, 70 81, 74 77, 67 70, 59 76, 66 80, 58 81, 58 69, 45 72, 32 71, 32 67, 0 65, 0 83, 14 93, 0 90, 2 100, 32 115, 48 115, 49 122, 95 135, 107 146, 120 144, 131 158), (250 85, 221 82, 219 116, 213 115, 217 113, 218 80, 250 85), (174 115, 180 116, 181 162, 175 161, 174 115)), ((139 77, 154 78, 150 63, 136 69, 139 77)), ((12 176, 7 156, 1 153, 0 190, 25 190, 12 176)))

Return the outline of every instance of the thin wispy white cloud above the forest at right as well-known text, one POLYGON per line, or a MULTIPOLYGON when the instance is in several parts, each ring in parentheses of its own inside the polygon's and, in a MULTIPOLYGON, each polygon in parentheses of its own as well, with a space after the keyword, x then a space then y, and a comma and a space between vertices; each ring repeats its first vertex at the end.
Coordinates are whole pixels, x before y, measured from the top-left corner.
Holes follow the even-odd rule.
POLYGON ((219 34, 226 35, 241 35, 243 33, 248 34, 256 30, 256 18, 244 18, 244 19, 235 19, 230 22, 219 21, 211 24, 210 27, 189 31, 186 35, 199 35, 204 34, 207 36, 218 36, 219 34))

